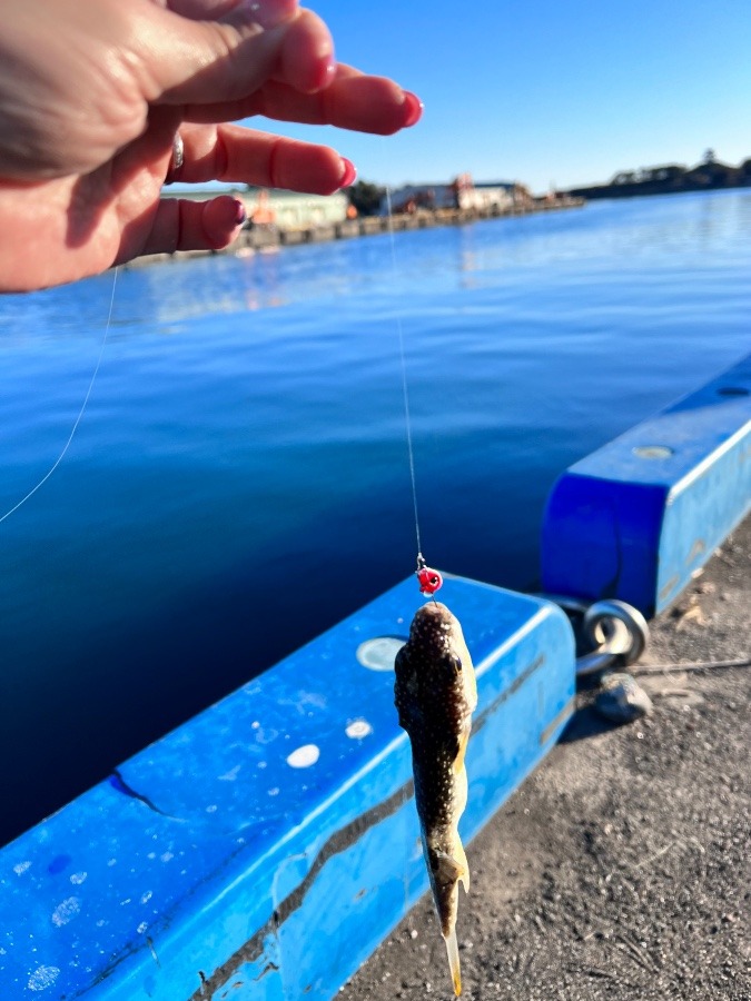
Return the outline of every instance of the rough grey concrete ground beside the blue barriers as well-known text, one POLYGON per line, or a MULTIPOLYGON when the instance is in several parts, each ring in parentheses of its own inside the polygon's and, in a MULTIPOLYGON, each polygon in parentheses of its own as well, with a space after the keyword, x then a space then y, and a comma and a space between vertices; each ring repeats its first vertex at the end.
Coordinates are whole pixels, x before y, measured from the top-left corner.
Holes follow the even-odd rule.
MULTIPOLYGON (((648 665, 751 656, 751 518, 651 624, 648 665)), ((751 667, 650 673, 564 740, 468 846, 457 935, 476 1001, 751 1001, 751 667)), ((470 776, 472 782, 472 776, 470 776)), ((453 997, 424 896, 339 994, 453 997)))

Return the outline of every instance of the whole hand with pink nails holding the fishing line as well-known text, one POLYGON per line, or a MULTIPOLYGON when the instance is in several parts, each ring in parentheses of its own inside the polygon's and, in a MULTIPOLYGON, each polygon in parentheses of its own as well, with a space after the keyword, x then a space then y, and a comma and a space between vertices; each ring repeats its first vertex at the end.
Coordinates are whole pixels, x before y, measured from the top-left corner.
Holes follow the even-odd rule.
POLYGON ((330 194, 354 168, 329 147, 226 122, 265 115, 389 135, 414 95, 337 65, 296 0, 7 2, 0 38, 0 289, 97 274, 141 254, 219 249, 229 196, 160 200, 169 179, 330 194))

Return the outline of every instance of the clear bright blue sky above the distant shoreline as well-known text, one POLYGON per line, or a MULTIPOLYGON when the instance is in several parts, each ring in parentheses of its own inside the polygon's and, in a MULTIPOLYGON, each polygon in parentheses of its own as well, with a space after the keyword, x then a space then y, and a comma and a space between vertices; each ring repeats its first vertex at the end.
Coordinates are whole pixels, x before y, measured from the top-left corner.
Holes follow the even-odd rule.
POLYGON ((307 0, 337 58, 425 102, 395 137, 255 119, 327 142, 362 180, 516 180, 542 192, 621 170, 751 157, 751 0, 307 0))

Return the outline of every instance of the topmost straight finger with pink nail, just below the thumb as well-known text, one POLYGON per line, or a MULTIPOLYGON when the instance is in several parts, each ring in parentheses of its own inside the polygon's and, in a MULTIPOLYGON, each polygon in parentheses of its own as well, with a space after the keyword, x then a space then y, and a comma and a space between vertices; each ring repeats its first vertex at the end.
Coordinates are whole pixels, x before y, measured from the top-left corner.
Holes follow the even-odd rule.
POLYGON ((237 121, 264 115, 276 121, 332 125, 358 132, 391 136, 419 121, 423 105, 414 93, 385 77, 360 73, 339 63, 334 79, 317 93, 300 93, 287 83, 270 81, 236 101, 190 105, 190 121, 237 121))

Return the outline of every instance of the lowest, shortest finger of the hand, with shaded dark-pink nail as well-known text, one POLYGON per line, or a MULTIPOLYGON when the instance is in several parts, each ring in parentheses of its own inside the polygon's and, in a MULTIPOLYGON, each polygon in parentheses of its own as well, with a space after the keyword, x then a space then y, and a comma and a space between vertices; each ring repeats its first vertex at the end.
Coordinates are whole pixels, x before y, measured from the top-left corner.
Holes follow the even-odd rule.
POLYGON ((151 231, 140 248, 121 248, 120 264, 135 255, 174 254, 176 250, 220 250, 236 238, 245 222, 245 209, 221 195, 210 201, 165 198, 154 217, 151 231))

